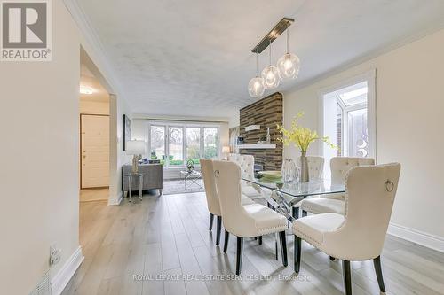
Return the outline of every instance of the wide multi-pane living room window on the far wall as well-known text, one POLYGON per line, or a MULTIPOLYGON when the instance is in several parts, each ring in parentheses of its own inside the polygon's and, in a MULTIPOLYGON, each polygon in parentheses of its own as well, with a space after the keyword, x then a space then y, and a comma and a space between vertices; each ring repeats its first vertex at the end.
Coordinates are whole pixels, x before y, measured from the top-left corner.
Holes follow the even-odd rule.
POLYGON ((217 158, 219 153, 218 127, 201 124, 148 122, 148 151, 151 159, 160 159, 164 167, 184 167, 192 159, 217 158))

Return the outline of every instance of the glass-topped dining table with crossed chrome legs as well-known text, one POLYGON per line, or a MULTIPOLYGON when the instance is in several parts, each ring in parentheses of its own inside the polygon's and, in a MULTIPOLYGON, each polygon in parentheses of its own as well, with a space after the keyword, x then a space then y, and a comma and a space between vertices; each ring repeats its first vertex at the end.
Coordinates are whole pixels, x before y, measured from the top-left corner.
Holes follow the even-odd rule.
POLYGON ((244 182, 250 183, 265 198, 269 206, 281 213, 289 221, 296 216, 294 206, 304 198, 327 194, 344 193, 344 184, 334 184, 328 179, 311 179, 309 182, 271 182, 263 178, 242 177, 244 182))

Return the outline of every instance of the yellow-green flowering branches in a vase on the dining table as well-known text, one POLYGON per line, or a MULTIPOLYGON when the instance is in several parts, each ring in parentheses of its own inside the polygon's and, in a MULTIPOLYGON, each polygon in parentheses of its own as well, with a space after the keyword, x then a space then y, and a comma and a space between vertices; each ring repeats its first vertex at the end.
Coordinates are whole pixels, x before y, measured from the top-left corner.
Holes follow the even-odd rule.
POLYGON ((294 146, 301 151, 301 182, 308 182, 308 163, 306 159, 306 151, 310 144, 316 140, 321 140, 328 144, 331 148, 335 149, 336 146, 331 144, 329 141, 329 136, 319 136, 315 130, 310 128, 305 128, 297 123, 297 120, 304 116, 304 112, 299 112, 295 118, 291 121, 291 127, 289 129, 283 128, 283 126, 277 126, 278 131, 282 134, 279 139, 284 145, 294 144, 294 146))

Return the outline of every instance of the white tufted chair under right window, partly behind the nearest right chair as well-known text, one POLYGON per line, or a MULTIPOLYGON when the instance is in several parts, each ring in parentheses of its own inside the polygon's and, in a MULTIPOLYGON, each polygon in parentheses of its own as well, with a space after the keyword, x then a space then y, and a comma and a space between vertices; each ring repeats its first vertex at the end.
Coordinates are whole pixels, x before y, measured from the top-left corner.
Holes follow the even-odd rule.
MULTIPOLYGON (((331 183, 345 183, 347 172, 353 167, 375 165, 372 158, 334 157, 330 159, 331 183)), ((300 204, 303 216, 307 212, 313 214, 339 213, 344 214, 345 194, 322 195, 321 198, 305 198, 300 204)))

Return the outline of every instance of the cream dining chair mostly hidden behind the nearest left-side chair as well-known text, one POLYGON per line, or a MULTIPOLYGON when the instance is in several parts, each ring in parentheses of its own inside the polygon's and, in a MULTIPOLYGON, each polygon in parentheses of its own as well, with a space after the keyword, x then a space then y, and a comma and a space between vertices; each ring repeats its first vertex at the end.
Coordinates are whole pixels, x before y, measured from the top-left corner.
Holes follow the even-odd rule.
MULTIPOLYGON (((217 216, 216 245, 220 242, 220 230, 222 226, 222 213, 220 211, 218 192, 214 182, 213 161, 211 159, 200 159, 202 167, 203 185, 207 198, 208 211, 210 211, 210 229, 213 229, 214 216, 217 216)), ((242 196, 242 205, 254 204, 250 198, 242 196)))

